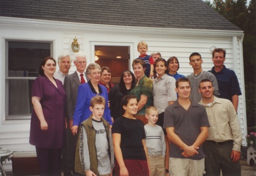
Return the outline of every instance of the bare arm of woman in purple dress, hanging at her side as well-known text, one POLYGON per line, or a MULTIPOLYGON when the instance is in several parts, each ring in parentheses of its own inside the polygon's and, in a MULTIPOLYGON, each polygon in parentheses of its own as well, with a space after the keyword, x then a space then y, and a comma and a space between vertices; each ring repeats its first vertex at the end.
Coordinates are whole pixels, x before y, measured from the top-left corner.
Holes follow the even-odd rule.
POLYGON ((34 107, 35 114, 37 114, 37 117, 40 121, 41 130, 47 130, 48 124, 45 121, 44 113, 42 113, 42 105, 40 103, 40 100, 41 100, 41 98, 39 98, 38 96, 32 96, 32 98, 31 98, 31 102, 34 107))

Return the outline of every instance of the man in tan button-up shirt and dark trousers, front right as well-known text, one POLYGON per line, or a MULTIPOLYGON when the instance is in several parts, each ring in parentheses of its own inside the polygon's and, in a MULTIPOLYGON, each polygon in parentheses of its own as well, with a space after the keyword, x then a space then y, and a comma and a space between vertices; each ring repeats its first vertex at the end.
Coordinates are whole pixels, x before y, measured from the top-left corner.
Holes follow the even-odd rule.
POLYGON ((205 175, 220 175, 221 171, 223 176, 241 175, 241 127, 232 102, 214 96, 212 82, 207 79, 200 81, 198 91, 211 125, 203 145, 205 175))

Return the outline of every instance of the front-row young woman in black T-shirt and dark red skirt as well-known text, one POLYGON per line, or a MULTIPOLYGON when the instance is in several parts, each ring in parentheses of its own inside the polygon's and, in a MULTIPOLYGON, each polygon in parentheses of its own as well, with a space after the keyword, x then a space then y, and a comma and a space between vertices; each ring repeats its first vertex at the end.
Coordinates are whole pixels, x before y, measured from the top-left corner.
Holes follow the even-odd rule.
POLYGON ((122 107, 125 112, 112 127, 115 175, 149 176, 144 125, 134 117, 138 110, 136 96, 124 96, 122 107))

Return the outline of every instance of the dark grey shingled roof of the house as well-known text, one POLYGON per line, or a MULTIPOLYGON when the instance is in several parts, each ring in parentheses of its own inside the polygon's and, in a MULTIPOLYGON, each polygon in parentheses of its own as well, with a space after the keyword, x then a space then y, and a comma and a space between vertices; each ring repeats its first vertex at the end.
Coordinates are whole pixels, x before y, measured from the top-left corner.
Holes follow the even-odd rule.
POLYGON ((201 0, 1 0, 0 16, 119 26, 241 31, 201 0))

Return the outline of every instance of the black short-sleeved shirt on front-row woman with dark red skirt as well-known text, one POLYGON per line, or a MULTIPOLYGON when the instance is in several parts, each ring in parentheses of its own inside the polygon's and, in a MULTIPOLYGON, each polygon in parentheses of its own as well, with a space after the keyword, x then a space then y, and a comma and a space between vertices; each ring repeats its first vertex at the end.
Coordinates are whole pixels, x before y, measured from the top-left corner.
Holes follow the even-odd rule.
POLYGON ((145 130, 142 121, 119 117, 112 126, 112 134, 121 134, 120 148, 123 159, 147 160, 142 140, 145 130))

